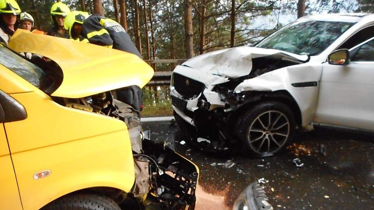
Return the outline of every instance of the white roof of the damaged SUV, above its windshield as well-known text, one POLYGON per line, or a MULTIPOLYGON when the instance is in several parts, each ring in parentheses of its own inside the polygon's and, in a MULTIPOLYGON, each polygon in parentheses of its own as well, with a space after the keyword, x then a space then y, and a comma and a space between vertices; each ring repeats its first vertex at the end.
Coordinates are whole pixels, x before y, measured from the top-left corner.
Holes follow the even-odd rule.
POLYGON ((369 13, 337 13, 337 14, 321 14, 321 15, 308 15, 298 20, 313 20, 313 21, 336 21, 336 22, 359 22, 361 20, 374 20, 374 14, 369 13), (365 17, 365 18, 364 18, 365 17), (371 17, 371 18, 368 18, 371 17))

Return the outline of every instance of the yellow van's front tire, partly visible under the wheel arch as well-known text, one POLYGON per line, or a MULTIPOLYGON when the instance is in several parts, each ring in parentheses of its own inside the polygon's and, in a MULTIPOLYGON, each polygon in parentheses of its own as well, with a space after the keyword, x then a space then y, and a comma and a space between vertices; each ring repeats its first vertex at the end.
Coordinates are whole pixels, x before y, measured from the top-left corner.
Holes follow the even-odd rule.
POLYGON ((120 207, 104 195, 79 193, 58 198, 42 210, 120 210, 120 207))

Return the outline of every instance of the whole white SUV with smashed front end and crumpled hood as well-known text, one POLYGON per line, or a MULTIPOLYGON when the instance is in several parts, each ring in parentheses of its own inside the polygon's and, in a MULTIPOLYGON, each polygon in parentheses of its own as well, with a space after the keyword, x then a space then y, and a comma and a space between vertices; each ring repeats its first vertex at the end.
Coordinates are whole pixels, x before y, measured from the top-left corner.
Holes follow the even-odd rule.
POLYGON ((244 145, 257 156, 281 151, 311 123, 374 130, 373 93, 371 14, 297 19, 254 47, 196 56, 171 81, 182 129, 210 149, 244 145))

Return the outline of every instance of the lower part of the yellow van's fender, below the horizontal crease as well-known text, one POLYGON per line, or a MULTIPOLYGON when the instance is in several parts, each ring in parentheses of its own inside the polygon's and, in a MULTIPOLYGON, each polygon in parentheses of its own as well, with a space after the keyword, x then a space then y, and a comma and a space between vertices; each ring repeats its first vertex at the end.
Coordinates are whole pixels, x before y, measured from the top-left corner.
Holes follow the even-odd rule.
POLYGON ((126 135, 119 131, 13 154, 24 210, 40 209, 62 195, 94 186, 129 192, 135 172, 126 135), (33 178, 44 170, 50 170, 50 176, 33 178))

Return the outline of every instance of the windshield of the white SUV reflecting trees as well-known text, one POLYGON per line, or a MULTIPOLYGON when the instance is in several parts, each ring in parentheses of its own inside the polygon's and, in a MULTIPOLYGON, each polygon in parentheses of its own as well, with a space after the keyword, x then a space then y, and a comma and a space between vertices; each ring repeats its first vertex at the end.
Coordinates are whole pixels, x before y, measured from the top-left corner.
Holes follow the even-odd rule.
POLYGON ((298 55, 318 55, 353 24, 355 23, 296 21, 264 38, 256 47, 298 55))

